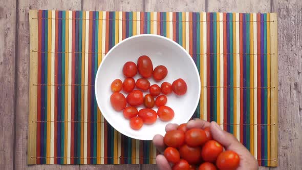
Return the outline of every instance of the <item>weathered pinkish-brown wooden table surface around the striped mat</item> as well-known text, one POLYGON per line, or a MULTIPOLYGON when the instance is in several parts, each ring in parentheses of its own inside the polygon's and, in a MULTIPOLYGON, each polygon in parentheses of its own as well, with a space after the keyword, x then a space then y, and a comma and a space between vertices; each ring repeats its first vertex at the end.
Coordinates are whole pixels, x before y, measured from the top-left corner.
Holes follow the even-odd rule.
POLYGON ((0 169, 157 169, 156 165, 27 165, 29 9, 277 12, 279 142, 277 168, 302 169, 302 1, 2 0, 0 3, 0 169))

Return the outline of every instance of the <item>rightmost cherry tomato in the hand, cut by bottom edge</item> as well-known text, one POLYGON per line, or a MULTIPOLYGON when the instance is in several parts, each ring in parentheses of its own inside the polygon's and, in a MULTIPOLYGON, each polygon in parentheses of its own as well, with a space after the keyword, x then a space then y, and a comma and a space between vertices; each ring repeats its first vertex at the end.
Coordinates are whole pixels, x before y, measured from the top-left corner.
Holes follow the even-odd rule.
POLYGON ((222 170, 233 170, 239 165, 240 158, 239 155, 233 151, 225 151, 219 154, 216 165, 222 170))

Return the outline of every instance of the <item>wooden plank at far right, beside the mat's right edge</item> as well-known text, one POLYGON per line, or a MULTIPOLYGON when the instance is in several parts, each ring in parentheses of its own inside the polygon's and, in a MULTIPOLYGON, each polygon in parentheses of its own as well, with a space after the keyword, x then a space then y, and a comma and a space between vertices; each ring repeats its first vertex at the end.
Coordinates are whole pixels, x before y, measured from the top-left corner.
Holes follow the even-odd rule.
POLYGON ((302 160, 302 2, 272 1, 278 13, 279 164, 300 169, 302 160))

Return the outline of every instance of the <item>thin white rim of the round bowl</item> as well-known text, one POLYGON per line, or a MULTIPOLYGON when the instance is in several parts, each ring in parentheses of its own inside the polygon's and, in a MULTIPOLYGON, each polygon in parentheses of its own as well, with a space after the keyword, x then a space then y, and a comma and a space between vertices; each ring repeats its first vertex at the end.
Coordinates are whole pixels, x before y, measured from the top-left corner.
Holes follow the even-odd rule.
MULTIPOLYGON (((193 60, 193 58, 190 56, 190 54, 189 54, 182 46, 180 46, 177 42, 175 42, 174 40, 171 40, 171 39, 169 39, 169 38, 167 38, 167 37, 164 37, 164 36, 161 36, 161 35, 156 35, 156 34, 140 34, 140 35, 134 35, 134 36, 125 38, 125 39, 123 39, 122 41, 118 42, 118 44, 116 44, 114 47, 112 47, 112 48, 107 52, 107 54, 103 57, 103 59, 102 59, 102 61, 101 61, 101 63, 100 63, 100 66, 98 67, 97 74, 96 74, 96 76, 95 76, 95 81, 94 81, 94 83, 95 83, 95 84, 94 84, 95 98, 96 98, 96 101, 97 101, 97 106, 98 106, 98 108, 100 109, 101 114, 103 115, 104 119, 106 119, 106 121, 107 121, 107 122, 108 122, 108 123, 109 123, 116 131, 118 131, 119 133, 121 133, 121 134, 123 134, 123 135, 125 135, 125 136, 127 136, 127 137, 130 137, 130 138, 133 138, 133 139, 138 139, 138 140, 152 140, 153 137, 152 137, 151 139, 149 139, 149 138, 146 139, 146 138, 140 138, 139 136, 133 136, 133 135, 130 135, 130 134, 125 134, 124 131, 121 132, 120 130, 116 129, 116 126, 114 125, 114 123, 113 123, 111 120, 107 120, 107 117, 105 116, 106 114, 103 114, 104 112, 103 112, 102 108, 100 107, 100 104, 99 104, 100 101, 99 101, 98 98, 96 97, 96 96, 97 96, 97 87, 98 87, 98 86, 97 86, 96 79, 97 79, 97 77, 99 76, 100 68, 102 67, 102 65, 103 65, 104 61, 106 60, 107 56, 110 55, 110 54, 112 53, 112 51, 113 51, 115 48, 117 48, 119 45, 123 44, 125 41, 131 40, 131 39, 134 39, 134 38, 138 38, 138 37, 150 37, 150 36, 156 37, 156 38, 162 38, 162 39, 164 39, 164 40, 168 40, 168 41, 172 42, 172 44, 174 44, 174 45, 176 45, 177 47, 179 47, 183 52, 185 52, 186 56, 189 58, 189 60, 192 62, 193 66, 194 66, 195 74, 199 75, 199 76, 197 76, 197 77, 198 77, 198 94, 201 94, 201 79, 200 79, 200 74, 199 74, 199 71, 198 71, 198 69, 197 69, 197 66, 196 66, 196 64, 195 64, 195 62, 194 62, 194 60, 193 60)), ((193 105, 193 108, 194 108, 193 110, 194 110, 194 111, 197 109, 199 101, 200 101, 200 95, 198 95, 198 98, 197 98, 195 104, 193 105)), ((193 112, 193 113, 190 113, 191 116, 188 117, 187 120, 185 120, 185 122, 189 121, 193 114, 194 114, 194 112, 193 112)))

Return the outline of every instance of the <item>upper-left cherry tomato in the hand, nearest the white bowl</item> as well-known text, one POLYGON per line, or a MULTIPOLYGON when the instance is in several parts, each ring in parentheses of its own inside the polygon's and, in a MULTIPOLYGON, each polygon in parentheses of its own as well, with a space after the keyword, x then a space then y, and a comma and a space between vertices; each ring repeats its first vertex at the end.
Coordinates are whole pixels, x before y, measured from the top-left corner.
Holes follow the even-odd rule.
POLYGON ((180 147, 185 142, 185 133, 179 130, 168 131, 164 136, 164 143, 170 147, 180 147))

